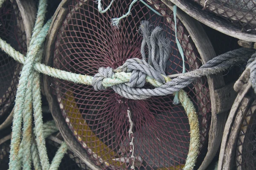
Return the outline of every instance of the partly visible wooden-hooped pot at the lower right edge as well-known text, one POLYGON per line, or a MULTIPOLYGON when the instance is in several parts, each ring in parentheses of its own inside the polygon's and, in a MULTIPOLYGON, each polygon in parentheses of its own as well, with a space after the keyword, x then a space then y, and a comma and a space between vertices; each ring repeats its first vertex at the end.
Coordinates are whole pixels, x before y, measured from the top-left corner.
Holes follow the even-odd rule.
POLYGON ((238 95, 225 125, 218 170, 256 168, 256 95, 249 77, 247 68, 234 85, 238 95))

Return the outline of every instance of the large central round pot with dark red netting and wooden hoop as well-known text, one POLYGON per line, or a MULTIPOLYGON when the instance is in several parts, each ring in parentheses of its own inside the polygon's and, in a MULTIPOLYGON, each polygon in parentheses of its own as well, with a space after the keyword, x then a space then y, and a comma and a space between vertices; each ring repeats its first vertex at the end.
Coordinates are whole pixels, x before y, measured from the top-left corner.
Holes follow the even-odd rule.
MULTIPOLYGON (((103 0, 106 7, 111 1, 103 0)), ((141 58, 141 21, 163 28, 169 37, 172 55, 166 75, 182 71, 182 59, 175 42, 172 7, 161 1, 135 3, 131 15, 121 20, 118 29, 110 19, 126 11, 130 0, 116 0, 109 11, 98 12, 93 0, 63 0, 53 17, 47 37, 44 63, 76 74, 95 75, 100 67, 117 68, 126 59, 141 58)), ((177 11, 177 38, 185 55, 186 71, 199 68, 215 57, 204 28, 183 11, 177 11)), ((207 153, 210 162, 219 147, 229 102, 233 95, 222 74, 201 77, 184 89, 195 105, 200 124, 198 167, 207 153), (223 118, 223 119, 222 119, 223 118), (212 125, 211 125, 211 119, 212 125), (218 119, 218 120, 217 120, 218 119), (210 147, 208 142, 210 139, 210 147), (209 151, 210 149, 210 151, 209 151)), ((145 100, 125 99, 112 89, 95 91, 93 87, 44 76, 44 91, 52 116, 69 145, 92 169, 127 169, 131 166, 127 110, 133 115, 135 169, 181 169, 189 149, 189 122, 181 105, 173 105, 173 96, 145 100), (75 137, 75 138, 74 138, 75 137)))

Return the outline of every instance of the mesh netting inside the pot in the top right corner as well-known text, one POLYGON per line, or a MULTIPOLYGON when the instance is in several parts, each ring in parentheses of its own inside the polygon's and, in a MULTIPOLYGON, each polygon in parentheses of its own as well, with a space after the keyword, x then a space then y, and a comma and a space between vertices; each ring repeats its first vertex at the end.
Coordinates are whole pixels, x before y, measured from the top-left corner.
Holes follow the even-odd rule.
POLYGON ((192 0, 241 31, 256 34, 256 0, 192 0))

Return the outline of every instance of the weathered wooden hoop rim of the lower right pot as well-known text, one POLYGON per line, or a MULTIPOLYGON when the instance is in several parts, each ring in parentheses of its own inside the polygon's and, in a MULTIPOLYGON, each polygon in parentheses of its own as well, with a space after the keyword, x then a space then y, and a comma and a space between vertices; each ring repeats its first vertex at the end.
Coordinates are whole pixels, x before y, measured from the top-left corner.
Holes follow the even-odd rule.
POLYGON ((247 68, 234 85, 234 89, 238 91, 238 96, 233 103, 224 128, 218 170, 229 170, 232 168, 233 158, 230 154, 233 154, 234 147, 236 147, 234 146, 234 141, 238 136, 238 129, 241 127, 243 116, 249 107, 248 103, 253 100, 250 96, 246 96, 247 92, 251 89, 251 83, 248 81, 249 77, 250 70, 247 68))

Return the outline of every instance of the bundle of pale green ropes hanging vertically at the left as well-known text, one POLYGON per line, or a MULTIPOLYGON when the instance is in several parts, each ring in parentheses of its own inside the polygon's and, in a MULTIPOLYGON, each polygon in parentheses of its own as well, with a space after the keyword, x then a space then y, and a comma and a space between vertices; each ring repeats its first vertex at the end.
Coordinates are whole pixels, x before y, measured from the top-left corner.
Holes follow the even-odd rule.
MULTIPOLYGON (((0 6, 4 0, 0 0, 0 6)), ((42 57, 42 45, 47 35, 51 20, 44 26, 44 18, 47 8, 47 0, 40 0, 38 7, 37 19, 33 29, 32 38, 29 43, 28 53, 26 57, 22 56, 23 68, 20 75, 20 81, 17 88, 13 127, 12 127, 12 140, 10 149, 10 170, 20 170, 21 165, 24 170, 31 169, 31 162, 33 161, 35 169, 49 170, 50 164, 47 156, 45 146, 43 121, 41 111, 41 92, 40 92, 40 74, 33 70, 34 62, 39 62, 42 57), (32 133, 32 109, 34 109, 35 118, 35 136, 32 133), (23 133, 21 136, 21 124, 23 118, 23 133), (38 148, 37 148, 38 147, 38 148)), ((1 40, 3 42, 3 40, 1 40)), ((6 43, 6 42, 3 42, 6 43)), ((10 47, 10 45, 7 45, 10 47)), ((12 49, 14 53, 14 49, 12 49)), ((55 131, 56 128, 47 131, 47 135, 55 131)), ((61 145, 61 151, 58 151, 56 158, 53 162, 51 169, 59 165, 59 160, 63 157, 67 145, 61 145)))

